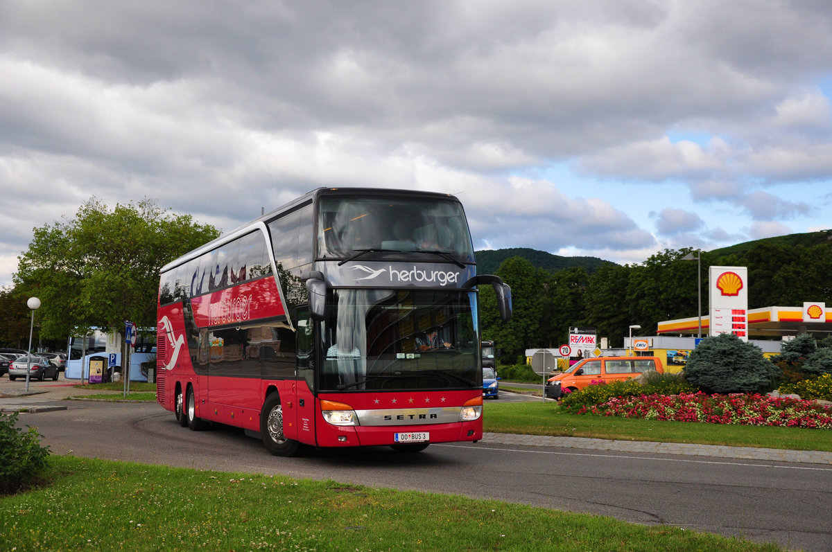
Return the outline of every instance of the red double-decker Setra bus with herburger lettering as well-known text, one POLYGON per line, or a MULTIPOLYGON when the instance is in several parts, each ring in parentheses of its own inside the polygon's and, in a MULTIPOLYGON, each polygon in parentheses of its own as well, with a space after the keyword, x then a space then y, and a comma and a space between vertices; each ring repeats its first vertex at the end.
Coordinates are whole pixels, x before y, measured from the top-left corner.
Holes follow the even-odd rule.
POLYGON ((314 190, 162 268, 158 402, 280 456, 478 441, 480 285, 508 320, 455 197, 314 190))

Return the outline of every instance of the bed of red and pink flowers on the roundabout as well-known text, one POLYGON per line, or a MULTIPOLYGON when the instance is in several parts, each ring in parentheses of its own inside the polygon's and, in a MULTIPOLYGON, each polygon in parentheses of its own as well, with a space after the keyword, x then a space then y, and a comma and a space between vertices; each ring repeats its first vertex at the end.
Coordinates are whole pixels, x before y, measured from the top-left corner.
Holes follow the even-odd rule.
POLYGON ((612 397, 577 414, 622 416, 663 421, 704 421, 743 426, 784 426, 832 429, 832 408, 811 401, 758 394, 612 397))

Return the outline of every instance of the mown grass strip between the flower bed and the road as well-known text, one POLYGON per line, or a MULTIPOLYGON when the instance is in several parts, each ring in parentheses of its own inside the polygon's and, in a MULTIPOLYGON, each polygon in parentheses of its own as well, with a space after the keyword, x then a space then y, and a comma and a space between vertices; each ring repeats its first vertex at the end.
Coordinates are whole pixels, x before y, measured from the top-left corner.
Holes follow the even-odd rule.
POLYGON ((483 421, 485 431, 498 433, 832 451, 830 430, 566 414, 552 401, 486 402, 483 421))

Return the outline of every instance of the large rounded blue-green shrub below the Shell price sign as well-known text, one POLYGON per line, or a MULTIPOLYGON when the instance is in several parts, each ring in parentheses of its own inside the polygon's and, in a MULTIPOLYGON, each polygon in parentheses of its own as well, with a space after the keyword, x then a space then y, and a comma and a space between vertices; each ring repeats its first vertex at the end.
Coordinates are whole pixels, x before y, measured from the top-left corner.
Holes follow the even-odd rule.
POLYGON ((687 382, 708 393, 763 392, 780 373, 760 347, 732 333, 703 339, 685 366, 687 382))

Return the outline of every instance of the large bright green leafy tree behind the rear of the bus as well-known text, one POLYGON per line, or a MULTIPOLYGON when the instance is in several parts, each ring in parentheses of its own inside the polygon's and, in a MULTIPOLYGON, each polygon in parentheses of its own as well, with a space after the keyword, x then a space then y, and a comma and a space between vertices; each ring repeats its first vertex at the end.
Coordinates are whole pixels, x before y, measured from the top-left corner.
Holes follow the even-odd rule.
POLYGON ((41 299, 36 318, 47 337, 125 320, 152 327, 161 267, 219 234, 154 200, 109 209, 93 197, 73 219, 34 229, 14 281, 41 299))

